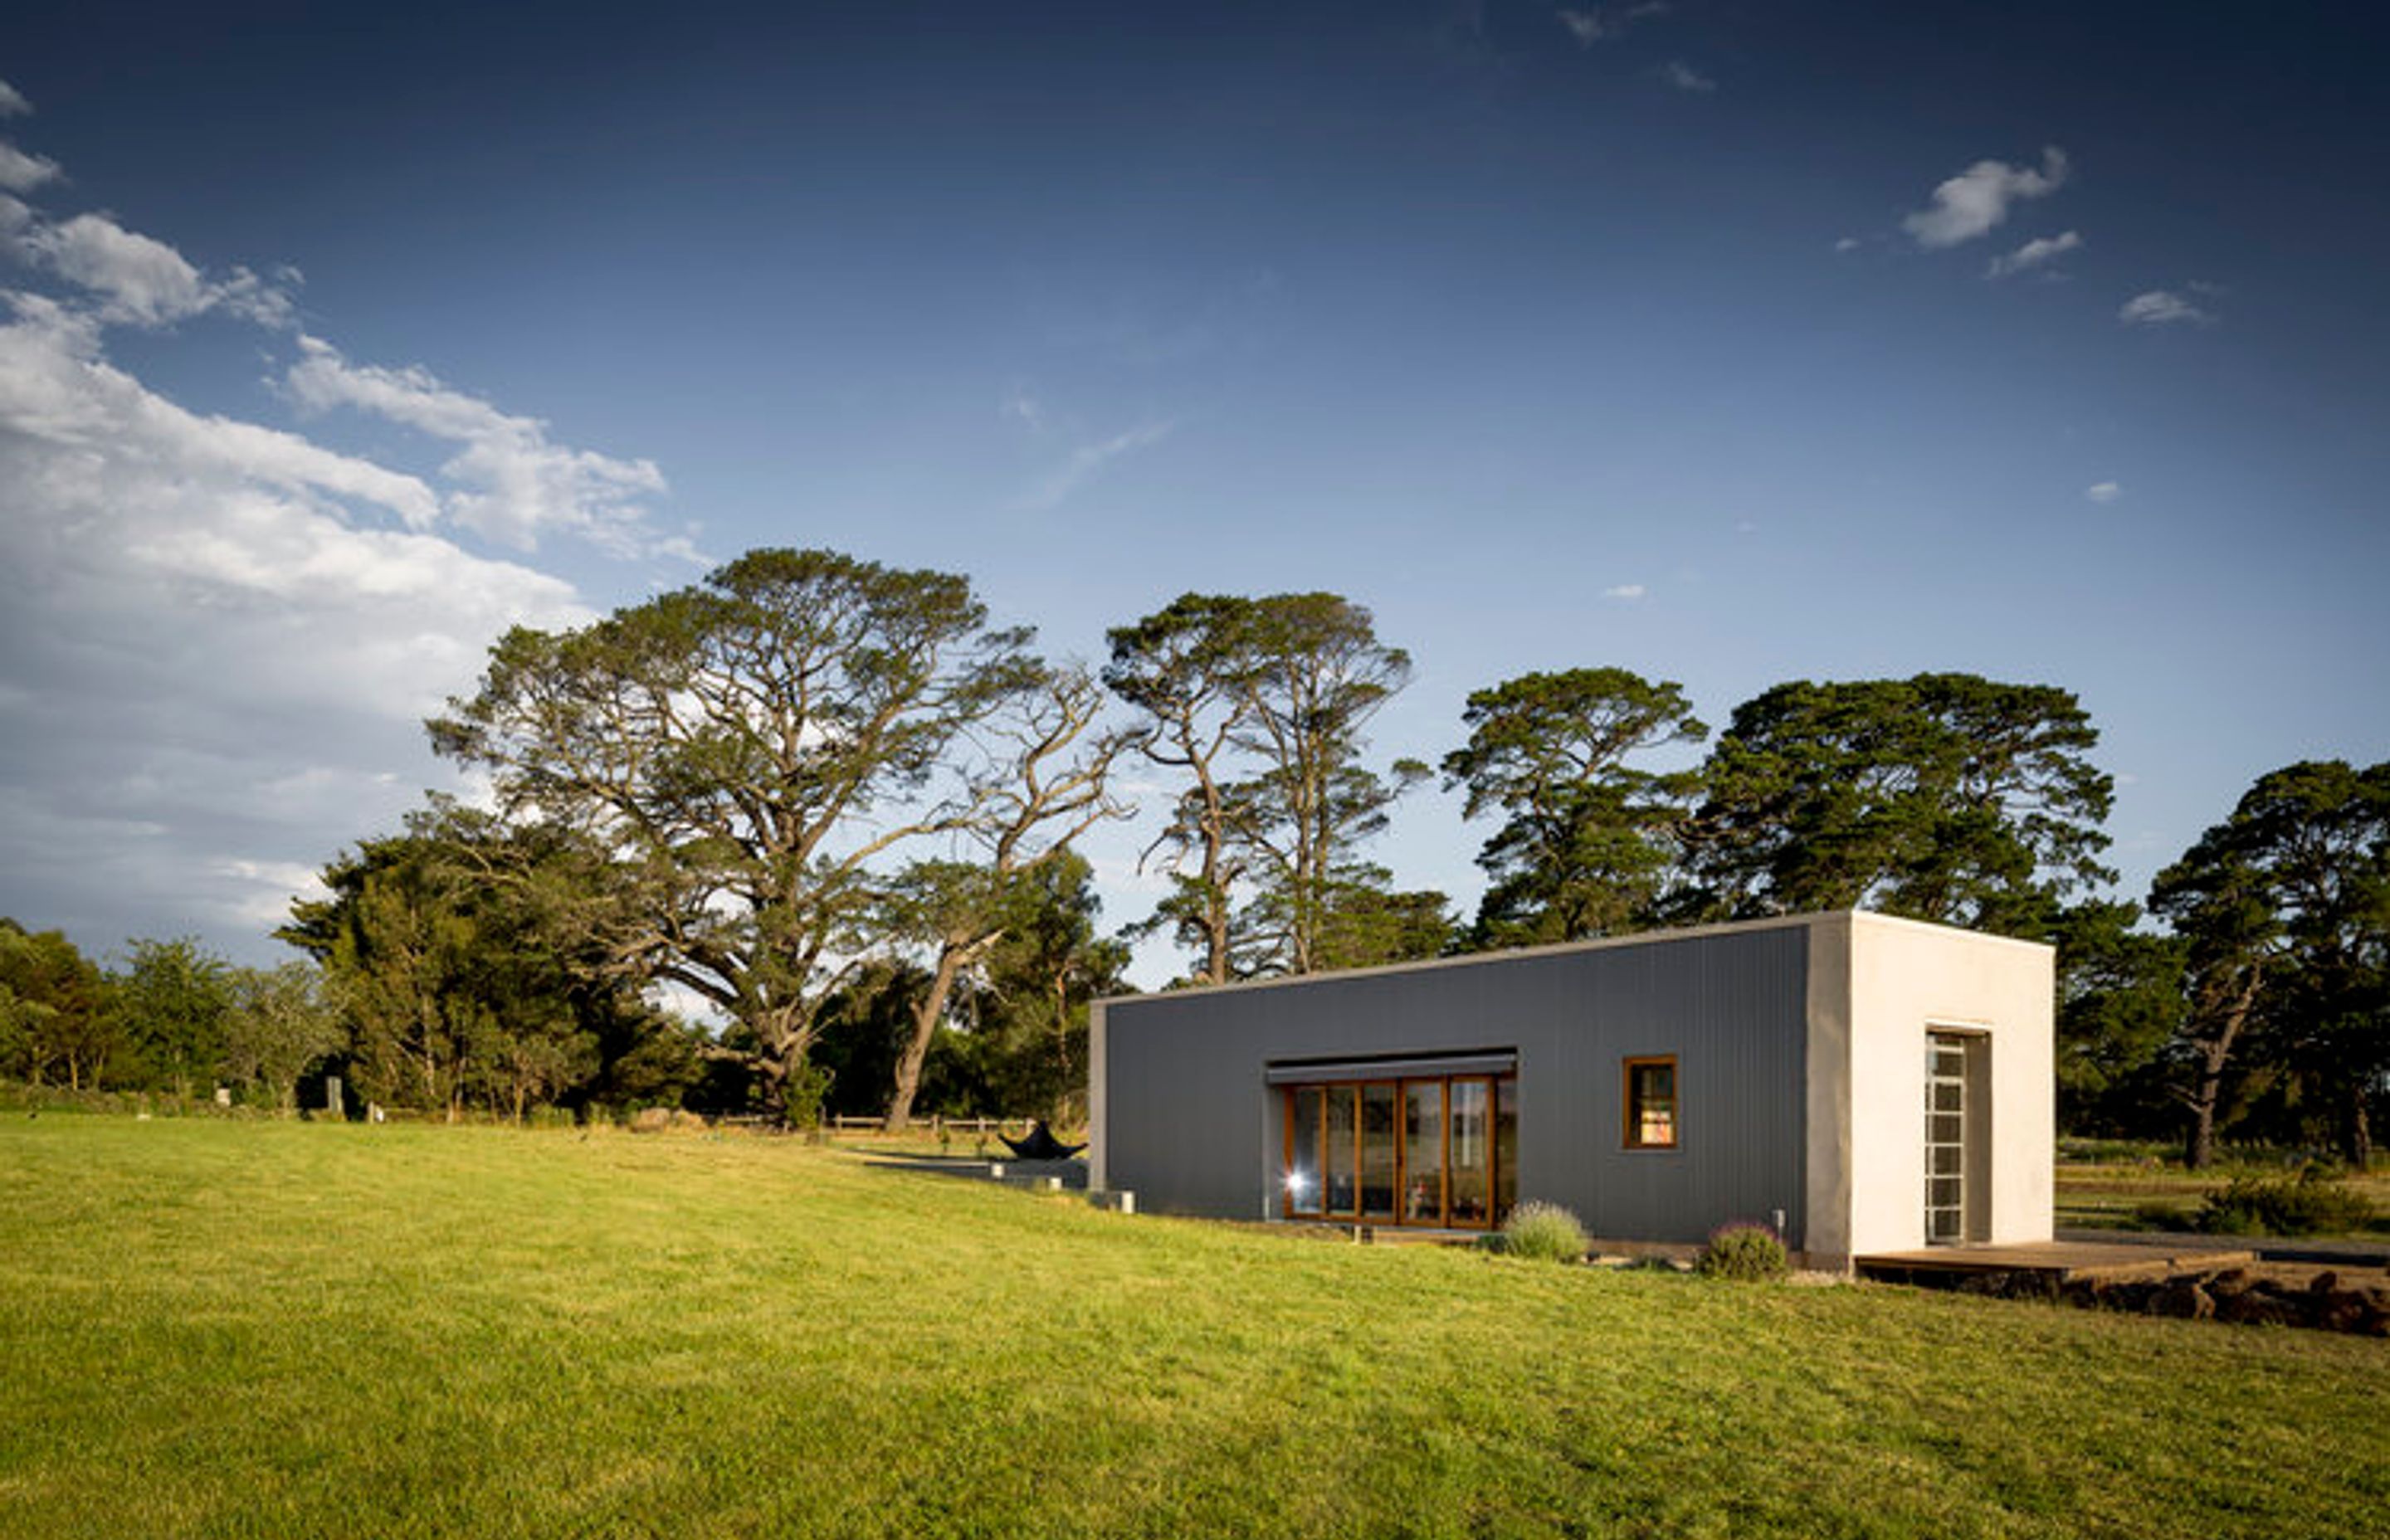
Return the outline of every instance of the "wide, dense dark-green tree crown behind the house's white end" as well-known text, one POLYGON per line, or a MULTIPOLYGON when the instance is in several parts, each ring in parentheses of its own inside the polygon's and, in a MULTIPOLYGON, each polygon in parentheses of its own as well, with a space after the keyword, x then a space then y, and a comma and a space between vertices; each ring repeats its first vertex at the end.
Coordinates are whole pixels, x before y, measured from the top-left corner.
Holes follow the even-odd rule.
POLYGON ((1745 701, 1685 827, 1692 909, 1876 909, 2046 937, 2113 882, 2113 784, 2075 696, 1977 674, 1778 684, 1745 701))

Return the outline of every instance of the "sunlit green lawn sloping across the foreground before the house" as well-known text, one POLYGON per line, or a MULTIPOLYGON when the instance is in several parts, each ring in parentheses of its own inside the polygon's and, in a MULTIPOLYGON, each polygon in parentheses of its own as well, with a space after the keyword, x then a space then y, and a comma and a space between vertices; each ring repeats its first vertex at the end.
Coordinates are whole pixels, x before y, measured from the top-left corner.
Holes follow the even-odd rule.
POLYGON ((2390 1535, 2390 1344, 1104 1215, 770 1138, 0 1122, 0 1535, 2390 1535))

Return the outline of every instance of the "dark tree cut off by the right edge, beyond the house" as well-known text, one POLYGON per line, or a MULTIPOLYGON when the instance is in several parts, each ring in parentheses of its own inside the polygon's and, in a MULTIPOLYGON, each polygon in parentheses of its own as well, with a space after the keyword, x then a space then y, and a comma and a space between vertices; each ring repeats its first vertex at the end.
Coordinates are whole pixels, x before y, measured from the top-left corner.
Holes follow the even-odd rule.
POLYGON ((2306 760, 2256 780, 2151 885, 2189 949, 2177 1040, 2187 1160, 2213 1155, 2232 1055, 2254 1031, 2311 1078, 2349 1160, 2373 1153, 2390 1076, 2390 763, 2306 760))

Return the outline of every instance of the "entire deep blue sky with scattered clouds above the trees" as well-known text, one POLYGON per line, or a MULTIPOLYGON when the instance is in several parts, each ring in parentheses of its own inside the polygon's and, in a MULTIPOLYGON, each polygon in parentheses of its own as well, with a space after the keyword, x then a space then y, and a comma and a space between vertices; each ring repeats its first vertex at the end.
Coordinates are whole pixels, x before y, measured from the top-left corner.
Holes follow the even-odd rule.
MULTIPOLYGON (((1085 658, 1334 588, 1417 660, 1389 758, 1537 667, 2063 684, 2127 894, 2390 753, 2366 7, 53 12, 0 913, 98 952, 270 959, 504 624, 750 545, 1085 658)), ((1467 904, 1484 832, 1379 856, 1467 904)))

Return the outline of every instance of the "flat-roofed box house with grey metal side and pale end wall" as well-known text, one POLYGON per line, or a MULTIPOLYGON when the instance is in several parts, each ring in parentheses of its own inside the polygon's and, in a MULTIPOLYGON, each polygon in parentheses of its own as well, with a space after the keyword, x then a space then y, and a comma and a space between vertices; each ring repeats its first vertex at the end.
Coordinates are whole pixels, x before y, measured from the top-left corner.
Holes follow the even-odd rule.
POLYGON ((1812 1267, 2051 1239, 2053 954, 1807 913, 1097 1002, 1090 1186, 1140 1210, 1606 1241, 1773 1224, 1812 1267))

